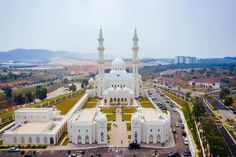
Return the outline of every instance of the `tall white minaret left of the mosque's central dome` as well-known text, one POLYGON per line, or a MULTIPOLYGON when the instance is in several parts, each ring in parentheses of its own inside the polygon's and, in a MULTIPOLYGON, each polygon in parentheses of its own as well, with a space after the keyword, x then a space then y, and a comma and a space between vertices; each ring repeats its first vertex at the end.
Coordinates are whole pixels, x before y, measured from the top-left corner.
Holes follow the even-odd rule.
POLYGON ((99 53, 99 60, 98 60, 98 67, 99 67, 99 72, 98 74, 101 76, 104 74, 104 46, 103 46, 103 41, 104 41, 104 38, 102 36, 102 29, 100 28, 100 33, 99 33, 99 38, 98 38, 98 43, 99 43, 99 46, 98 46, 98 53, 99 53))

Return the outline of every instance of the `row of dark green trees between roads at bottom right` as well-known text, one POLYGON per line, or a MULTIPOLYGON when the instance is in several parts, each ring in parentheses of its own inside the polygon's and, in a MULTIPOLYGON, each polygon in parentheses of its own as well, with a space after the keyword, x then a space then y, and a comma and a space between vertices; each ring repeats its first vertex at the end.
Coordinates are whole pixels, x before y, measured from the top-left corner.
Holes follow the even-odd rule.
POLYGON ((199 125, 199 129, 202 130, 200 135, 206 154, 228 157, 228 145, 225 143, 214 121, 205 113, 205 107, 200 99, 194 101, 192 114, 199 125))

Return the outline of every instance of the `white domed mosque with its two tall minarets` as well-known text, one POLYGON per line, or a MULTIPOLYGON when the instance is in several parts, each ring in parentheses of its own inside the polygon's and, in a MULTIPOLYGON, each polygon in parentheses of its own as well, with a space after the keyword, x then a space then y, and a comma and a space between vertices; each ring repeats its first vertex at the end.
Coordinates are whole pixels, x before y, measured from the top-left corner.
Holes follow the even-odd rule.
POLYGON ((128 105, 133 104, 133 99, 143 95, 142 77, 138 74, 138 36, 135 29, 133 37, 133 59, 132 73, 126 72, 125 62, 117 58, 113 60, 110 73, 104 73, 104 38, 102 30, 100 30, 99 41, 99 73, 95 77, 94 89, 95 96, 103 98, 105 104, 113 102, 127 102, 128 105))

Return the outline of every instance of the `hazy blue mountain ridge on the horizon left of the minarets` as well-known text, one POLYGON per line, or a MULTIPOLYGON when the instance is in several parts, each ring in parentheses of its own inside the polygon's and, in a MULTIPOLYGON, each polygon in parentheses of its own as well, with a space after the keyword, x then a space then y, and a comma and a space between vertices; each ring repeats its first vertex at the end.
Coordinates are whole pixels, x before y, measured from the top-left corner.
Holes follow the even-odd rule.
MULTIPOLYGON (((106 56, 111 59, 111 56, 106 56)), ((98 53, 77 53, 69 51, 50 51, 45 49, 14 49, 0 51, 0 61, 50 61, 53 59, 98 59, 98 53)))

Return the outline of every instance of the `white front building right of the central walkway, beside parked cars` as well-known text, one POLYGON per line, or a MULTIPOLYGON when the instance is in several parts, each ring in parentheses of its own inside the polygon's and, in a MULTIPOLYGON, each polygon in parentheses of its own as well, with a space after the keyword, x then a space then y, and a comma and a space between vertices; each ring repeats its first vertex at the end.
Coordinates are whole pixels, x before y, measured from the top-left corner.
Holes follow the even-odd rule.
POLYGON ((131 141, 137 143, 162 143, 171 137, 170 114, 151 108, 139 108, 131 118, 131 141))

